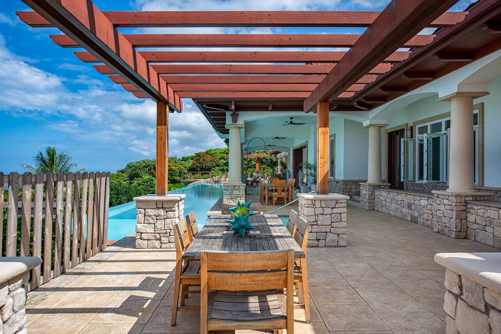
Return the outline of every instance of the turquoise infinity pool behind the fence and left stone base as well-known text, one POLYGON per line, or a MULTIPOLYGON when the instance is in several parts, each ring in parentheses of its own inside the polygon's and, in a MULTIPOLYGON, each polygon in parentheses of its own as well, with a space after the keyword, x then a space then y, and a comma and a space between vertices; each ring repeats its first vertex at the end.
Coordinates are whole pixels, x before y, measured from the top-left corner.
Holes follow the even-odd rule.
MULTIPOLYGON (((207 211, 222 196, 221 184, 193 184, 169 191, 169 194, 186 194, 184 214, 195 211, 198 228, 205 225, 207 211)), ((136 202, 110 208, 108 215, 108 240, 120 240, 136 231, 136 202)))

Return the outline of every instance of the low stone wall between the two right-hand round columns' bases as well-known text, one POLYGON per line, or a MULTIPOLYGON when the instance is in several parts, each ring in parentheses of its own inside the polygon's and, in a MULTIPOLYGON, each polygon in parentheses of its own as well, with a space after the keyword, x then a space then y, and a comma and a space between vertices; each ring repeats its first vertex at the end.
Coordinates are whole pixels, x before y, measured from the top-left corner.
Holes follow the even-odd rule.
POLYGON ((432 226, 432 194, 374 189, 374 210, 420 225, 432 226))

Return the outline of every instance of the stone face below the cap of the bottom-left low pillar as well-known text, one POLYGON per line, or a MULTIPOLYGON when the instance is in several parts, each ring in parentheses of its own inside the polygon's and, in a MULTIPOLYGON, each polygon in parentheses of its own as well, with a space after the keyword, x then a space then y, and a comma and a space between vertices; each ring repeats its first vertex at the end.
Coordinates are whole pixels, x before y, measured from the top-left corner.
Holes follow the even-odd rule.
POLYGON ((0 284, 0 314, 3 334, 26 334, 26 298, 30 272, 9 279, 0 284))

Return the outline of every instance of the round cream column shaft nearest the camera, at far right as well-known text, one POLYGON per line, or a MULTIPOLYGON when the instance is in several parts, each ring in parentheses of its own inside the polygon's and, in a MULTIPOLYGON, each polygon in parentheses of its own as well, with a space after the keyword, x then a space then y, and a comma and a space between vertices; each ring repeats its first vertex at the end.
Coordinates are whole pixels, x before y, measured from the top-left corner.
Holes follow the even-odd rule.
POLYGON ((450 192, 475 191, 473 97, 459 96, 450 105, 450 192))

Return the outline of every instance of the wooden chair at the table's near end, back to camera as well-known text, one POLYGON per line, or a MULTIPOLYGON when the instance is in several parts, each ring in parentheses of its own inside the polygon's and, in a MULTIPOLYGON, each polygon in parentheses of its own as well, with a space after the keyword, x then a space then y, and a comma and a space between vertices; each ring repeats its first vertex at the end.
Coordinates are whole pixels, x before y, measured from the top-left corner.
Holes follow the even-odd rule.
POLYGON ((200 264, 201 334, 283 328, 294 334, 294 296, 282 292, 293 289, 294 250, 202 251, 200 264))

